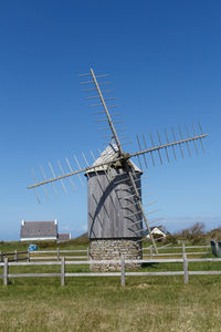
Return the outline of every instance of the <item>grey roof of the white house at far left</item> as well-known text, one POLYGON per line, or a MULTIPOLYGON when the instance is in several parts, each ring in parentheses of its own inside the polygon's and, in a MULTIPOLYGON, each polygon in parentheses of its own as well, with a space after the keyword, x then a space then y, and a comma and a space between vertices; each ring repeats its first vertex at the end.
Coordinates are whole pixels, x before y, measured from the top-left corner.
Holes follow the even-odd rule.
POLYGON ((21 238, 56 238, 57 221, 24 221, 21 225, 21 238))

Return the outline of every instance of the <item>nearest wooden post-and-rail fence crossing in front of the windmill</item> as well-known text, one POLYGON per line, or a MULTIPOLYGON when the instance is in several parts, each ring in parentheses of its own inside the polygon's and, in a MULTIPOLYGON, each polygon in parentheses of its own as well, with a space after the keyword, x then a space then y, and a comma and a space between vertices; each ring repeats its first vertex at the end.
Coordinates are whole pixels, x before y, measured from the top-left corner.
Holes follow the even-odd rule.
POLYGON ((87 260, 87 261, 65 261, 65 258, 62 257, 60 261, 44 261, 44 262, 10 262, 8 258, 4 258, 4 262, 0 262, 0 267, 3 267, 3 274, 0 274, 0 278, 3 280, 3 284, 8 284, 9 278, 36 278, 36 277, 59 277, 61 278, 61 286, 65 284, 65 278, 70 277, 120 277, 120 284, 125 286, 125 277, 149 277, 149 276, 183 276, 183 282, 189 282, 189 276, 202 276, 202 274, 221 274, 219 271, 189 271, 189 262, 221 262, 221 258, 191 258, 188 259, 187 255, 183 253, 183 257, 180 259, 143 259, 143 260, 87 260), (127 263, 171 263, 171 262, 181 262, 181 271, 166 271, 166 272, 128 272, 125 271, 125 266, 127 263), (67 264, 118 264, 120 266, 120 272, 65 272, 65 267, 67 264), (61 271, 56 273, 9 273, 9 267, 30 267, 30 266, 61 266, 61 271))

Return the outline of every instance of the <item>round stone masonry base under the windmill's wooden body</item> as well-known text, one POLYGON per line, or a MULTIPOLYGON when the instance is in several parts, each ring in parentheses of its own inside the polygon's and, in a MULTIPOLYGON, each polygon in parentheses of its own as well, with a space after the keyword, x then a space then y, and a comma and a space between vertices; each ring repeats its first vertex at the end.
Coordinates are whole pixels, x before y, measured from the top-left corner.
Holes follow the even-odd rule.
MULTIPOLYGON (((120 260, 141 259, 141 241, 139 238, 130 239, 91 239, 90 258, 91 260, 120 260)), ((140 268, 139 263, 126 264, 126 269, 140 268)), ((91 264, 91 271, 120 271, 120 264, 91 264)))

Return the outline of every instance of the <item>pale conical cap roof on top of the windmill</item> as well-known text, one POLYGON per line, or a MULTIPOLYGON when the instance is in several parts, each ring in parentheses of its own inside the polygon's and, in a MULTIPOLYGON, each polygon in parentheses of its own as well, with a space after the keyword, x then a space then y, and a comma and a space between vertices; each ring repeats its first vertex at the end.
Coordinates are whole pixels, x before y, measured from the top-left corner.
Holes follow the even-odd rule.
MULTIPOLYGON (((107 145, 107 147, 101 153, 99 157, 94 162, 94 164, 92 166, 97 166, 97 165, 103 164, 103 163, 115 162, 115 159, 117 157, 118 157, 118 147, 117 147, 117 145, 115 143, 109 143, 107 145)), ((130 163, 134 166, 135 172, 143 173, 137 167, 137 165, 135 165, 131 160, 130 160, 130 163)), ((98 167, 95 167, 94 169, 92 168, 86 174, 94 173, 94 172, 99 172, 99 170, 107 170, 107 168, 108 168, 108 165, 98 166, 98 167)))

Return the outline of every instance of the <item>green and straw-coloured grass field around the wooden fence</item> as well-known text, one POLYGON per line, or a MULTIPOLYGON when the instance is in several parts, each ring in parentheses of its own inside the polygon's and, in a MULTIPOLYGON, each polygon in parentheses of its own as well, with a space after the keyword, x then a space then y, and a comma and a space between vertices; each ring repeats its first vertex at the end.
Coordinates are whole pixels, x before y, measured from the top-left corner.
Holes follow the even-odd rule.
MULTIPOLYGON (((12 249, 13 250, 13 249, 12 249)), ((207 255, 209 257, 210 255, 207 255)), ((60 267, 11 267, 51 272, 60 267), (46 270, 45 270, 46 269, 46 270)), ((144 271, 181 270, 154 263, 144 271)), ((190 270, 221 270, 220 262, 197 262, 190 270)), ((69 266, 67 271, 88 267, 69 266)), ((221 276, 11 279, 0 282, 0 331, 220 331, 221 276)))

